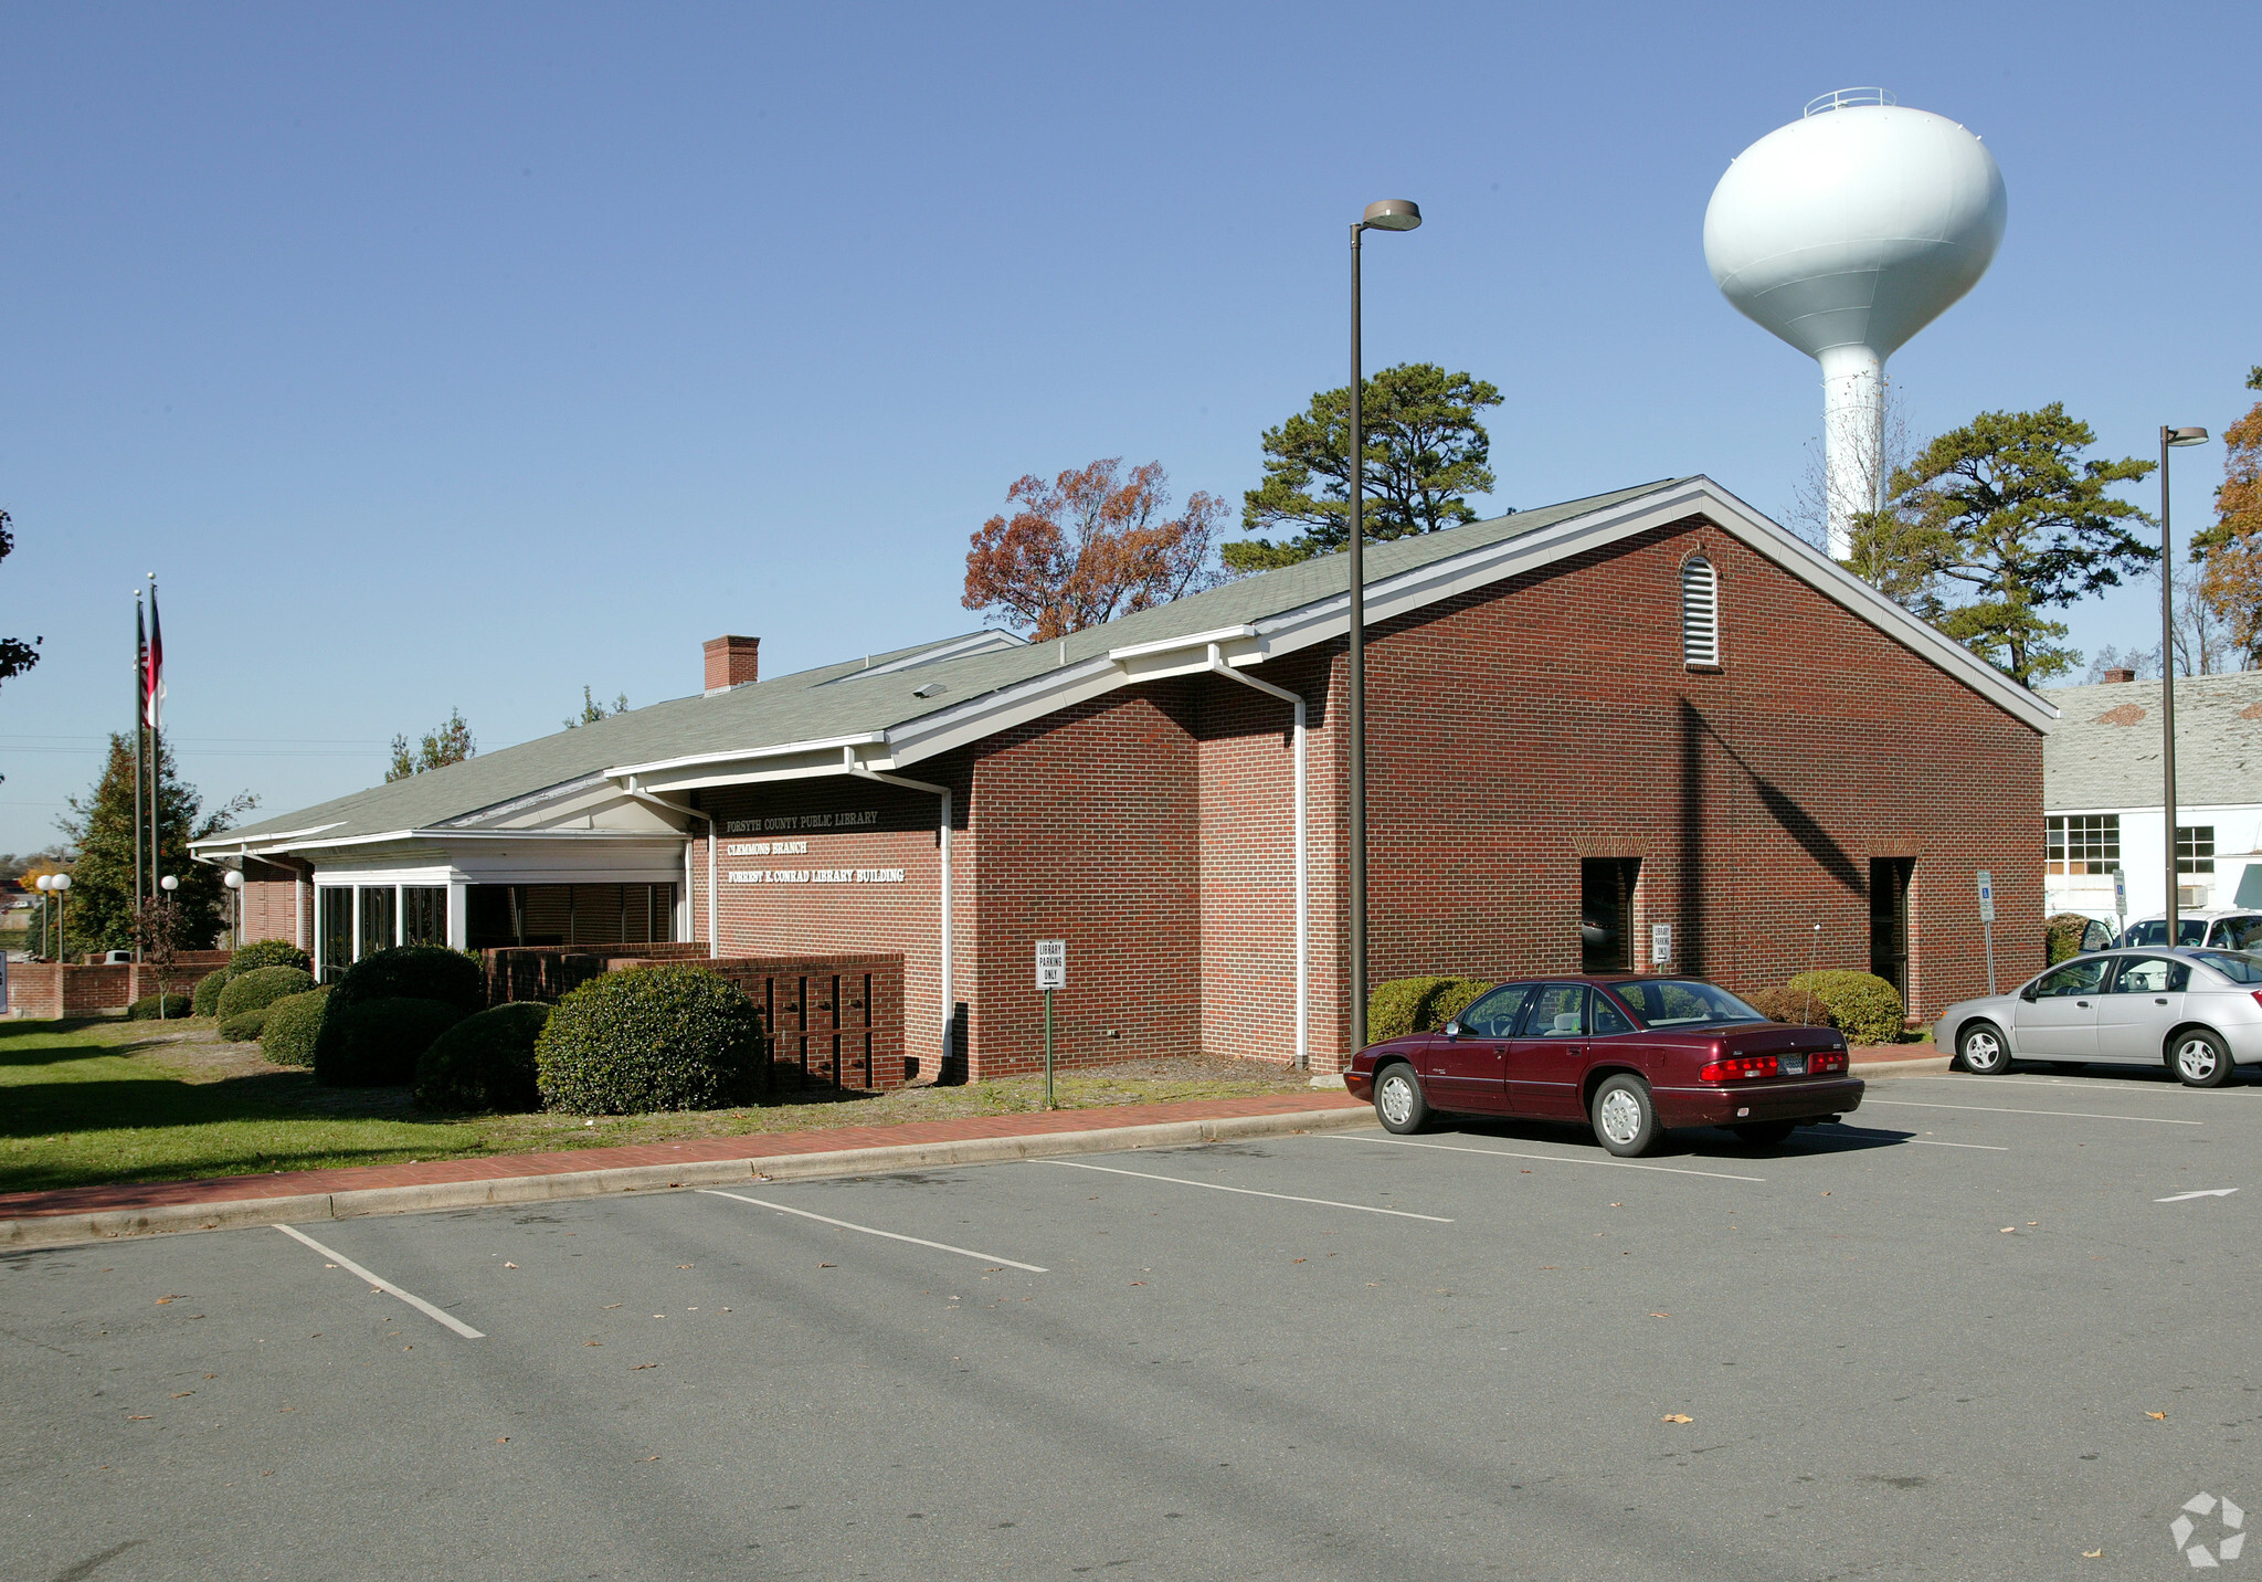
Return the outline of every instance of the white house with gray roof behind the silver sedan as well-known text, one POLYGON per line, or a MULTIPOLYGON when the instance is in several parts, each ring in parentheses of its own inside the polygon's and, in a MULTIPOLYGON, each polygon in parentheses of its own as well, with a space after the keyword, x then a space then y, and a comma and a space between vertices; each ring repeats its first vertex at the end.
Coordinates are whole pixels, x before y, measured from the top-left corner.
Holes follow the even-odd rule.
MULTIPOLYGON (((2043 693, 2043 899, 2113 923, 2113 869, 2129 917, 2167 910, 2167 828, 2160 683, 2106 674, 2043 693)), ((2176 903, 2262 908, 2262 670, 2176 679, 2176 903)))

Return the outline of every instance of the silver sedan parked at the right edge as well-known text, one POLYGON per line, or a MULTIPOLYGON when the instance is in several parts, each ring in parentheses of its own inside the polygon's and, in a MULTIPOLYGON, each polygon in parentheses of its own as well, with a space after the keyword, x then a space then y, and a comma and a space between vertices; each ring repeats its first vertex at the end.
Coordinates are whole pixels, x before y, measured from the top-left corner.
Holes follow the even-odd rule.
POLYGON ((2013 1059, 2165 1064, 2194 1089, 2262 1061, 2262 957, 2239 951, 2097 951, 2011 994, 1950 1005, 1932 1030, 1957 1068, 2013 1059))

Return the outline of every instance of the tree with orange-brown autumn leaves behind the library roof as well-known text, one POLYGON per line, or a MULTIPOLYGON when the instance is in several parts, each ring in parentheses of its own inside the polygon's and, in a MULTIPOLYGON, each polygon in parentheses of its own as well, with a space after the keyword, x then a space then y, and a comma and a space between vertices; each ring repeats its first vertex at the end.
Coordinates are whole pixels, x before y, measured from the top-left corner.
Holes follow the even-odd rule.
POLYGON ((1120 473, 1113 457, 1007 489, 1011 516, 982 523, 966 552, 966 609, 998 611, 1043 643, 1217 582, 1224 500, 1197 491, 1169 516, 1160 462, 1120 473))

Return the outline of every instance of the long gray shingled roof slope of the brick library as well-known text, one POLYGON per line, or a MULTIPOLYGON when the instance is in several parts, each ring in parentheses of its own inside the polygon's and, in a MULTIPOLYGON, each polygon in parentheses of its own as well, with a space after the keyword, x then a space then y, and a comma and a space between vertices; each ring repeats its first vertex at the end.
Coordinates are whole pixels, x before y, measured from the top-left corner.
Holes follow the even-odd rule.
MULTIPOLYGON (((1378 543, 1366 552, 1366 579, 1373 584, 1681 482, 1687 480, 1667 478, 1534 511, 1495 516, 1466 527, 1378 543)), ((1348 566, 1341 554, 1328 554, 1124 616, 1104 627, 1090 627, 1070 636, 1065 640, 1065 659, 1068 663, 1077 663, 1115 647, 1217 631, 1303 609, 1341 593, 1348 582, 1348 566)), ((950 640, 959 638, 946 638, 946 643, 950 640)), ((1061 663, 1061 643, 1041 643, 943 659, 912 670, 891 670, 889 674, 862 674, 866 663, 882 665, 912 656, 921 647, 941 645, 914 645, 891 654, 873 654, 871 661, 851 659, 819 670, 801 670, 737 686, 713 697, 679 697, 647 708, 631 708, 629 713, 611 715, 572 731, 484 751, 446 769, 430 769, 405 781, 391 781, 389 785, 375 785, 312 808, 260 819, 258 824, 233 828, 224 837, 215 837, 215 842, 224 840, 233 844, 244 837, 296 833, 314 826, 333 826, 323 833, 326 840, 434 828, 450 819, 466 819, 482 808, 498 808, 541 790, 570 785, 615 765, 887 731, 907 720, 941 713, 943 708, 959 708, 968 699, 1029 681, 1061 663), (914 697, 914 688, 932 681, 941 681, 948 690, 936 697, 914 697)))

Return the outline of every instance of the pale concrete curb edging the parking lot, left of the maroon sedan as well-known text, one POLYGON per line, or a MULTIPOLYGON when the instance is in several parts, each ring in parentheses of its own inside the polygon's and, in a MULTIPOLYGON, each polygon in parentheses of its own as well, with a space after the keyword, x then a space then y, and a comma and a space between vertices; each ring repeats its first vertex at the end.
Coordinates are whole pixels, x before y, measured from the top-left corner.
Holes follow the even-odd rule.
POLYGON ((1287 1136, 1330 1127, 1369 1125, 1375 1111, 1298 1109, 1283 1116, 1228 1116, 1224 1120, 1160 1120, 1097 1132, 1043 1132, 1036 1136, 977 1136, 957 1143, 903 1143, 896 1147, 844 1147, 830 1154, 778 1154, 710 1159, 681 1166, 627 1166, 618 1170, 570 1170, 566 1175, 520 1175, 491 1181, 432 1181, 428 1186, 371 1186, 355 1193, 301 1193, 296 1197, 247 1197, 222 1204, 158 1204, 111 1213, 54 1213, 0 1220, 0 1249, 68 1247, 129 1236, 174 1236, 179 1231, 233 1231, 247 1224, 305 1224, 310 1220, 357 1220, 373 1213, 432 1213, 437 1209, 486 1209, 498 1204, 559 1202, 606 1193, 665 1193, 728 1181, 810 1181, 828 1175, 882 1175, 927 1166, 986 1166, 1050 1154, 1113 1154, 1129 1147, 1194 1147, 1235 1143, 1251 1136, 1287 1136))

